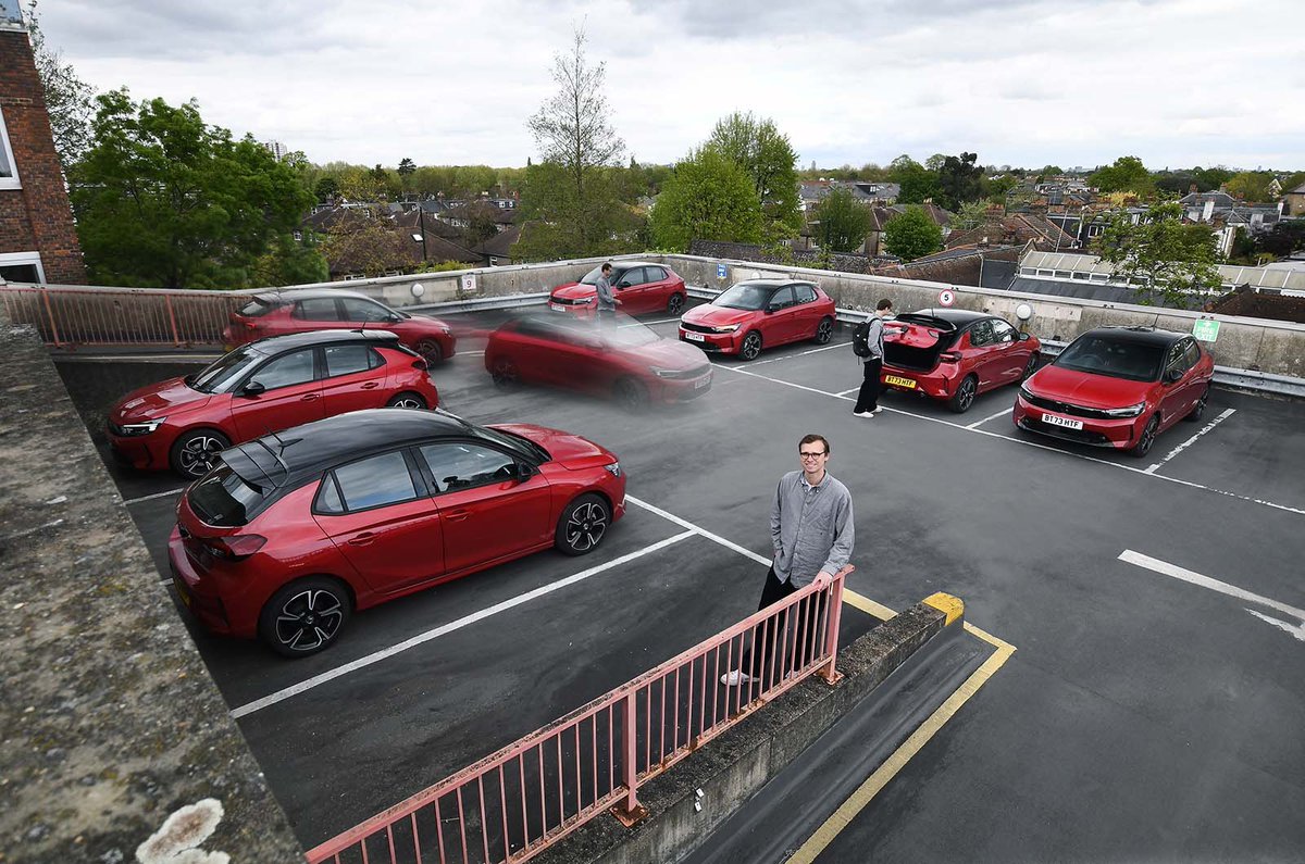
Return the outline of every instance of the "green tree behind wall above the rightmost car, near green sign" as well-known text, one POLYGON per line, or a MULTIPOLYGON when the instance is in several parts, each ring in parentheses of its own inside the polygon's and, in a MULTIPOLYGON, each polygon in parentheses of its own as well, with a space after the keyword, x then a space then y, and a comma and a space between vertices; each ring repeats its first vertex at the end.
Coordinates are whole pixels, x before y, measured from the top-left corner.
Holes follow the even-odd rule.
POLYGON ((1134 286, 1142 303, 1160 296, 1165 305, 1188 308, 1189 292, 1220 285, 1214 232, 1206 224, 1184 224, 1177 204, 1151 208, 1138 224, 1126 211, 1114 213, 1094 251, 1134 286))

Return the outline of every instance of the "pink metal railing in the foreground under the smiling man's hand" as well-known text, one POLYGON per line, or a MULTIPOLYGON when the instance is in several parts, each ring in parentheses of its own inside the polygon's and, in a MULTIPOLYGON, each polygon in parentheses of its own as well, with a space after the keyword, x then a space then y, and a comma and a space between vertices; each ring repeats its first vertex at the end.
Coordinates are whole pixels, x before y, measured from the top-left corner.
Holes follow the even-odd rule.
MULTIPOLYGON (((566 717, 317 846, 309 864, 515 864, 611 809, 633 822, 638 787, 810 675, 834 683, 844 568, 566 717), (719 679, 771 637, 760 675, 719 679)), ((760 649, 758 649, 760 650, 760 649)))

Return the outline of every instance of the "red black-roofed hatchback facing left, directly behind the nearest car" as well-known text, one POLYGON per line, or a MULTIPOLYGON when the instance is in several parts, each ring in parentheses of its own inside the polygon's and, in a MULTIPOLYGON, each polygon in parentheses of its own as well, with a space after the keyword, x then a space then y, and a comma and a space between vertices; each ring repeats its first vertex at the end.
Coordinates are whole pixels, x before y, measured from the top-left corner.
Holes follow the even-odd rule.
POLYGON ((198 478, 232 442, 359 409, 438 403, 425 360, 393 333, 300 333, 128 393, 108 412, 108 442, 133 467, 198 478))

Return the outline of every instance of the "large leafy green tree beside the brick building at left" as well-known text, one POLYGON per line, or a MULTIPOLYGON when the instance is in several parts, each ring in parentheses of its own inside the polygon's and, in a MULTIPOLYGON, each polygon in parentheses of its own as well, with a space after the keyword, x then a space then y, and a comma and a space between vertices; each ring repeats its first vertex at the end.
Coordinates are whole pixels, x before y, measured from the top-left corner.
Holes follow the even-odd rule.
POLYGON ((98 97, 93 144, 69 177, 77 234, 98 285, 239 288, 312 193, 252 136, 209 127, 192 100, 98 97))

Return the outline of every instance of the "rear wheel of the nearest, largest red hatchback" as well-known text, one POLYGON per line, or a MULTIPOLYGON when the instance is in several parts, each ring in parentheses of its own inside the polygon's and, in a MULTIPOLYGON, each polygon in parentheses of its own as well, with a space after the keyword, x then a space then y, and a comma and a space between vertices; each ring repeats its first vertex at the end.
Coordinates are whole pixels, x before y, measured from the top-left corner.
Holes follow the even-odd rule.
POLYGON ((258 615, 258 638, 282 656, 329 647, 348 624, 352 600, 337 579, 313 576, 282 587, 258 615))

